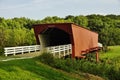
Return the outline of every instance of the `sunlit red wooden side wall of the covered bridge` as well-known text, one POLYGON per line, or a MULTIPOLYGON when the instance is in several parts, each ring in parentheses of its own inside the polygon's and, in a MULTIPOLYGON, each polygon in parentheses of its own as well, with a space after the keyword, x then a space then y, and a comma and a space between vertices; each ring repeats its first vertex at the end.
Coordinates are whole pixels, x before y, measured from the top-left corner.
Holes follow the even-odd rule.
POLYGON ((74 39, 74 57, 80 57, 82 52, 89 52, 98 47, 98 34, 83 27, 72 24, 74 39))

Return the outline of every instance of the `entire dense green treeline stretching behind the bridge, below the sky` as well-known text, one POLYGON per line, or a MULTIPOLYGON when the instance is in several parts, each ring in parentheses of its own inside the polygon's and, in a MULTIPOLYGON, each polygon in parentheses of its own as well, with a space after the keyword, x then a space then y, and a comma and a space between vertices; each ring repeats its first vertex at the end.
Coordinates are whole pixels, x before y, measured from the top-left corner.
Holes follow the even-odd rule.
POLYGON ((120 45, 120 15, 68 15, 45 17, 42 20, 29 18, 5 19, 0 17, 0 48, 36 44, 33 24, 72 22, 99 33, 99 42, 104 46, 120 45))

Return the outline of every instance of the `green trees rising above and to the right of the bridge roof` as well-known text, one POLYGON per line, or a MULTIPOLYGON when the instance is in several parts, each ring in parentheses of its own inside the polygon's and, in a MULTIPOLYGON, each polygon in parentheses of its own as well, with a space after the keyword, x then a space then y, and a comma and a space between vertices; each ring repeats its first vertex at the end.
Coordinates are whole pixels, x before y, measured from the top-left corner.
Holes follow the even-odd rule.
POLYGON ((120 45, 120 15, 68 15, 65 18, 57 16, 46 17, 40 23, 72 22, 99 34, 99 42, 104 46, 120 45))

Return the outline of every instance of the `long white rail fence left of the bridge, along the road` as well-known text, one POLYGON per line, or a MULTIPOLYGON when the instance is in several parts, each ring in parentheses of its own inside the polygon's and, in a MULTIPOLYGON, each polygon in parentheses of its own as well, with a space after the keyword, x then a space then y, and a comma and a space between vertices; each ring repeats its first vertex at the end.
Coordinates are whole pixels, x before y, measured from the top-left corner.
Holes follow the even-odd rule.
POLYGON ((40 45, 33 45, 33 46, 19 46, 19 47, 6 47, 4 48, 4 54, 7 56, 8 54, 17 54, 17 53, 25 53, 25 52, 36 52, 40 50, 40 45))

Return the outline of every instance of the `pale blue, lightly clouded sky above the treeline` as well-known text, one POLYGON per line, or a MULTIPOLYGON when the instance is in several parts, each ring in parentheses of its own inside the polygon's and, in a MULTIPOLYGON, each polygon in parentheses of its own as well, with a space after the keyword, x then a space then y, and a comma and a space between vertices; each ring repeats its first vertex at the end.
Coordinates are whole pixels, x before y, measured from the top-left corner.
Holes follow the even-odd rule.
POLYGON ((120 0, 0 0, 0 17, 4 18, 90 14, 120 15, 120 0))

